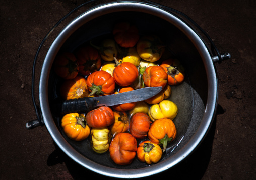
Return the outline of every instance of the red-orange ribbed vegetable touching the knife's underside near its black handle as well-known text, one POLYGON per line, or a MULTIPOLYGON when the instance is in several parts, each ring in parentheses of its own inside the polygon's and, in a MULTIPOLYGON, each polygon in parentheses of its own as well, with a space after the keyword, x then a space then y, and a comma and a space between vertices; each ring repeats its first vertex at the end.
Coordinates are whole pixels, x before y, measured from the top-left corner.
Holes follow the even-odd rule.
POLYGON ((114 113, 112 109, 101 106, 87 113, 86 121, 89 127, 104 128, 114 123, 114 113))

